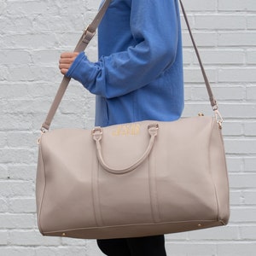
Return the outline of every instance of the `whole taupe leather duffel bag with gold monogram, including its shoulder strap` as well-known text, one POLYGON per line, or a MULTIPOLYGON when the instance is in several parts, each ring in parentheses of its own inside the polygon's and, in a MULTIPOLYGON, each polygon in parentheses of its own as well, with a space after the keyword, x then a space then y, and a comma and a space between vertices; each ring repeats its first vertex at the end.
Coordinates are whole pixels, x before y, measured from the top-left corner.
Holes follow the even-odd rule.
MULTIPOLYGON (((75 51, 89 44, 110 2, 75 51)), ((189 28, 184 9, 183 15, 189 28)), ((228 223, 223 120, 190 28, 189 34, 215 117, 49 131, 70 81, 63 78, 38 139, 36 200, 44 236, 154 236, 228 223)))

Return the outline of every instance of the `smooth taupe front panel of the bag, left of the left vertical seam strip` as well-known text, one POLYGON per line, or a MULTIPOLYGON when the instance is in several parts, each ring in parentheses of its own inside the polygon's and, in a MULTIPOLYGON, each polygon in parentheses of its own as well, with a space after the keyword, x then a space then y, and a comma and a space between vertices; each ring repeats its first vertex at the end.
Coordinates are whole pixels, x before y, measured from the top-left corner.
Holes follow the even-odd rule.
POLYGON ((44 232, 95 227, 90 131, 61 129, 41 139, 45 170, 40 223, 44 232))

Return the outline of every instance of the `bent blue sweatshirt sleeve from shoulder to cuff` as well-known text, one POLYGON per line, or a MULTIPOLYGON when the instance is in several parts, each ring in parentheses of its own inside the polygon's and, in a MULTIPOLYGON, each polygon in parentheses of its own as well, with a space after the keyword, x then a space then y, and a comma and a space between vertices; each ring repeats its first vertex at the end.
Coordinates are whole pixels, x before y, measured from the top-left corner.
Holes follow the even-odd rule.
POLYGON ((176 57, 179 29, 176 3, 132 0, 131 35, 136 44, 125 51, 102 56, 97 62, 89 61, 82 52, 67 77, 106 98, 128 94, 158 78, 176 57))

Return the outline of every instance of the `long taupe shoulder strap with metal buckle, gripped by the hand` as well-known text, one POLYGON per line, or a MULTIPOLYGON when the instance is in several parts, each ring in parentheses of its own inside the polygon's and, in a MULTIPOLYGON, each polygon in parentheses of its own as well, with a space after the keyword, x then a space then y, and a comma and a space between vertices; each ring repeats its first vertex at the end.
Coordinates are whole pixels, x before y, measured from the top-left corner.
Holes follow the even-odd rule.
MULTIPOLYGON (((102 7, 99 9, 99 12, 97 13, 97 15, 94 18, 94 20, 92 20, 90 25, 87 26, 84 29, 84 32, 83 32, 81 38, 79 39, 79 43, 76 45, 74 51, 77 51, 77 52, 84 51, 84 49, 90 43, 90 40, 96 34, 96 29, 100 25, 100 23, 102 21, 102 18, 105 15, 105 13, 106 13, 106 11, 108 9, 108 6, 111 3, 111 1, 112 0, 105 0, 104 3, 102 3, 102 7)), ((202 64, 202 61, 201 61, 201 56, 200 56, 199 51, 197 49, 197 46, 195 44, 195 39, 194 39, 193 34, 191 32, 191 28, 189 26, 189 20, 188 20, 188 17, 186 15, 185 9, 183 7, 182 0, 179 0, 179 3, 181 5, 182 11, 183 11, 184 20, 185 20, 186 25, 188 27, 189 35, 190 35, 190 38, 192 40, 192 44, 194 46, 196 56, 197 56, 197 59, 199 61, 200 67, 201 67, 201 73, 203 75, 205 84, 207 86, 207 93, 208 93, 209 100, 210 100, 210 103, 211 103, 211 106, 212 106, 212 110, 215 113, 215 116, 216 116, 216 119, 218 121, 218 124, 221 125, 222 122, 223 122, 223 119, 222 119, 220 113, 218 112, 218 105, 217 105, 217 102, 216 102, 216 100, 215 100, 215 98, 214 98, 214 96, 212 94, 211 85, 210 85, 210 83, 209 83, 209 81, 207 79, 207 73, 206 73, 206 71, 205 71, 205 69, 203 67, 203 64, 202 64)), ((71 79, 67 78, 66 76, 63 77, 63 79, 61 81, 61 85, 59 87, 59 90, 56 93, 55 99, 52 102, 51 107, 49 108, 49 113, 47 114, 47 117, 44 120, 43 125, 41 126, 41 131, 42 132, 49 131, 49 126, 51 124, 51 121, 54 118, 57 109, 59 108, 59 105, 61 103, 61 99, 64 96, 65 91, 67 90, 67 85, 69 84, 70 80, 71 79)))

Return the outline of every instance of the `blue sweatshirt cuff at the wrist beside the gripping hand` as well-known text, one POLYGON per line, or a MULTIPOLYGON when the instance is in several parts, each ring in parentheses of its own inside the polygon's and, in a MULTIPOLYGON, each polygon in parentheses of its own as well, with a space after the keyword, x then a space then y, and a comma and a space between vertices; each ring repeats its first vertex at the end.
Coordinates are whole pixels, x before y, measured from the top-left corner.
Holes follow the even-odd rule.
POLYGON ((86 84, 96 76, 97 67, 87 59, 84 52, 80 52, 67 71, 67 78, 79 81, 86 88, 86 84))

